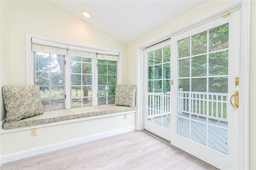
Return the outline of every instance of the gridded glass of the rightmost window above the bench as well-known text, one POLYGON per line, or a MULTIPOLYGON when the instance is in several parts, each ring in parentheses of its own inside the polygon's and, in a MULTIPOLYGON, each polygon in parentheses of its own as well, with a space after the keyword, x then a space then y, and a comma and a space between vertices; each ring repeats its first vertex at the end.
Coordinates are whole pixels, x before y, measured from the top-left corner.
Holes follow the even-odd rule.
POLYGON ((115 103, 117 61, 98 60, 98 105, 115 103))

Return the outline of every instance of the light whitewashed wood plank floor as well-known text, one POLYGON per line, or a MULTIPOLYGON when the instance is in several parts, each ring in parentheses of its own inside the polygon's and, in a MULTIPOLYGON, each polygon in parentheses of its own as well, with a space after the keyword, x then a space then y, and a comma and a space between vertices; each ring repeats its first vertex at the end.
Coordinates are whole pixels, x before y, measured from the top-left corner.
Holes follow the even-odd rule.
POLYGON ((9 162, 1 170, 212 169, 141 131, 9 162))

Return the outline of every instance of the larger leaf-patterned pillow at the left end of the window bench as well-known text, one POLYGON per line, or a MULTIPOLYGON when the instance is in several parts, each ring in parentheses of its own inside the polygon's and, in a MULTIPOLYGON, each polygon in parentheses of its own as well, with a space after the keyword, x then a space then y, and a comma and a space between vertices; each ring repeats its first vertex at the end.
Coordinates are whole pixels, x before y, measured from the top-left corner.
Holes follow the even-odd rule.
POLYGON ((3 86, 7 123, 44 113, 39 88, 39 86, 3 86))

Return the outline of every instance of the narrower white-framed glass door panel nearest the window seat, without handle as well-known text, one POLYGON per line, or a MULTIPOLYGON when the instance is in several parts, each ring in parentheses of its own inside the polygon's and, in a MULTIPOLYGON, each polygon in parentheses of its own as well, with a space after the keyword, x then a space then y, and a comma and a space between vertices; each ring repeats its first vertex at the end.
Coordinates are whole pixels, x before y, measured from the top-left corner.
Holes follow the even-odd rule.
POLYGON ((144 129, 170 141, 170 40, 144 50, 144 129))

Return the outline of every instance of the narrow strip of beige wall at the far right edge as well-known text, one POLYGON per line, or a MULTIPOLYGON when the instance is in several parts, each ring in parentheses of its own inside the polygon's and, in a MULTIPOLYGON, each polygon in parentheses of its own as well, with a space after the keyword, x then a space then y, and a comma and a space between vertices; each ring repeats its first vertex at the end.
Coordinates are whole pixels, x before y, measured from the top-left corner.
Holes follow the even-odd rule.
POLYGON ((256 170, 256 1, 251 9, 250 51, 250 169, 256 170))

